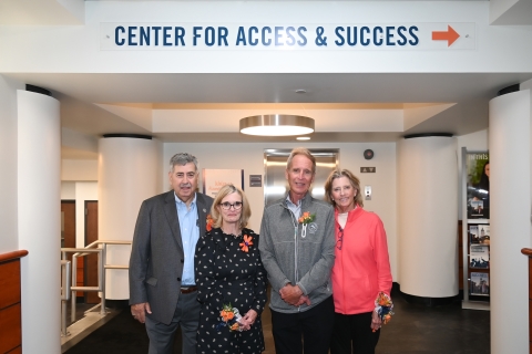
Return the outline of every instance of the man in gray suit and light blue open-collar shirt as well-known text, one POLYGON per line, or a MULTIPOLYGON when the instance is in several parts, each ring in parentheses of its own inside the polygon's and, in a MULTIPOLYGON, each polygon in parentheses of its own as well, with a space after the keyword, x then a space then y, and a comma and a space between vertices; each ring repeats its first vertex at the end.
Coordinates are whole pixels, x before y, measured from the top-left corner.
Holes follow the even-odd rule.
POLYGON ((130 259, 131 313, 146 324, 150 354, 172 353, 181 325, 183 354, 196 352, 200 302, 194 252, 205 233, 213 198, 196 192, 197 160, 176 154, 170 160, 172 190, 143 201, 130 259))

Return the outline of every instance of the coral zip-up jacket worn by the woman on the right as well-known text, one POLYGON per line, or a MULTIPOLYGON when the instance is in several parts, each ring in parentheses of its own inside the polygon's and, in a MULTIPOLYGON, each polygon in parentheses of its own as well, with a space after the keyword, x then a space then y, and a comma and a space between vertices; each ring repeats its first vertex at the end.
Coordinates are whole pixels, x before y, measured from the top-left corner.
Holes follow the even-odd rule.
MULTIPOLYGON (((338 211, 335 211, 335 220, 338 220, 338 211)), ((390 261, 382 221, 376 214, 357 207, 347 216, 341 241, 338 222, 335 232, 335 311, 341 314, 371 312, 379 292, 390 295, 391 291, 390 261)))

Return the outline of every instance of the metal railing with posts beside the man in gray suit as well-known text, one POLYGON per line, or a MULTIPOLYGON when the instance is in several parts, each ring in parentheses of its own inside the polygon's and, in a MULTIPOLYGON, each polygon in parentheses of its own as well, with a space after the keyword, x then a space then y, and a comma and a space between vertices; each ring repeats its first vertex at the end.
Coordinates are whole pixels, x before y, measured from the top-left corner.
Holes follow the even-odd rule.
MULTIPOLYGON (((75 322, 75 299, 78 291, 98 291, 101 292, 101 302, 94 308, 88 310, 92 311, 100 306, 100 314, 105 315, 105 270, 108 269, 129 269, 129 266, 108 264, 108 244, 131 244, 131 241, 111 241, 111 240, 98 240, 86 246, 85 248, 62 248, 61 249, 61 273, 64 274, 61 287, 61 335, 66 336, 66 301, 71 299, 71 322, 75 322), (66 259, 69 253, 72 254, 72 264, 66 259), (92 253, 98 253, 98 287, 78 287, 78 259, 92 253), (64 266, 63 266, 64 264, 64 266), (72 266, 72 267, 71 267, 72 266), (69 280, 71 282, 69 283, 69 280)), ((85 263, 86 264, 86 263, 85 263)), ((86 269, 86 266, 85 266, 86 269)))

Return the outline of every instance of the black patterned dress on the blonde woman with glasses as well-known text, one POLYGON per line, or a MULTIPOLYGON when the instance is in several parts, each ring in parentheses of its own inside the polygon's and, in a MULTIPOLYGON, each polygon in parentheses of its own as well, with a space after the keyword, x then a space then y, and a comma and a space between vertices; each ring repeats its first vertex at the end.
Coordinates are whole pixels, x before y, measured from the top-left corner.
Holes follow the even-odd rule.
POLYGON ((195 256, 197 299, 202 302, 197 329, 198 354, 255 354, 264 351, 260 313, 266 304, 266 271, 258 252, 258 235, 243 229, 242 235, 208 231, 197 241, 195 256), (244 236, 252 237, 248 251, 242 250, 244 236), (249 331, 221 326, 224 304, 244 316, 250 309, 258 314, 249 331))

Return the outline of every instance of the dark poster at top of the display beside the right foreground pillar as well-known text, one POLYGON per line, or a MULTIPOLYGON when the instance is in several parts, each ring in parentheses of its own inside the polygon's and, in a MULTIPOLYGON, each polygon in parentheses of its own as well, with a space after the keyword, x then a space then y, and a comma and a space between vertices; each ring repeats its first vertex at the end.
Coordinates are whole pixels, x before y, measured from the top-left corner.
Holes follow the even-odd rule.
POLYGON ((490 155, 467 153, 468 219, 490 218, 490 155))

